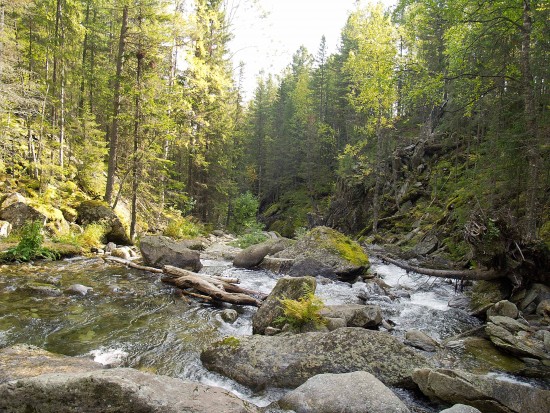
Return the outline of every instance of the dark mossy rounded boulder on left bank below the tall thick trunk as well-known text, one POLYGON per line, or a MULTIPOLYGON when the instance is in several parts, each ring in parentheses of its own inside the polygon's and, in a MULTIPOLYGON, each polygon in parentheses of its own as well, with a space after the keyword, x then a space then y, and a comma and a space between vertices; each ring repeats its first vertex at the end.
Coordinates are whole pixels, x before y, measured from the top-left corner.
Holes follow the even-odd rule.
POLYGON ((105 226, 105 238, 108 242, 121 245, 132 244, 122 221, 104 202, 83 201, 76 208, 76 211, 78 213, 77 224, 85 226, 92 223, 101 223, 105 226))

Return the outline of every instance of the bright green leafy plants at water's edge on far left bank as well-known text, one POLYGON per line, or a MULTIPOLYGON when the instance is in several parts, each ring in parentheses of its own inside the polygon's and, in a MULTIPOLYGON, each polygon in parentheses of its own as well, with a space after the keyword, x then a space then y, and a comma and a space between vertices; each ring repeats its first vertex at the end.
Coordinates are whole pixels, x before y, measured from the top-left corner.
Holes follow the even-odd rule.
POLYGON ((40 221, 26 223, 21 228, 20 237, 19 244, 6 251, 1 257, 2 260, 27 262, 38 258, 49 260, 59 258, 56 252, 42 246, 44 235, 40 221))

